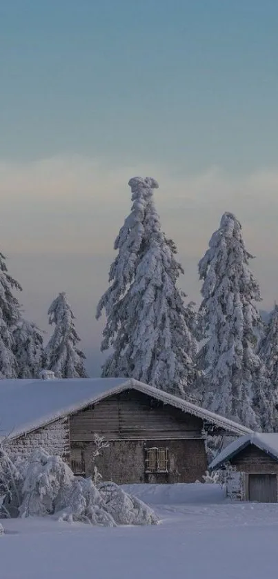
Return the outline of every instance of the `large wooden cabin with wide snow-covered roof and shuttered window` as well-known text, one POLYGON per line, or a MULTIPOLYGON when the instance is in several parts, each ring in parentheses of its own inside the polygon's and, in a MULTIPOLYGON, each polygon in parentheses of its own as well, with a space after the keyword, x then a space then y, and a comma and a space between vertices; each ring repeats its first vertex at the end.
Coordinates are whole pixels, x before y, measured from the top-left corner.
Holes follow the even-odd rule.
POLYGON ((95 433, 104 480, 195 482, 207 469, 206 434, 250 433, 241 424, 126 378, 1 380, 1 438, 11 453, 41 447, 78 475, 92 474, 95 433))

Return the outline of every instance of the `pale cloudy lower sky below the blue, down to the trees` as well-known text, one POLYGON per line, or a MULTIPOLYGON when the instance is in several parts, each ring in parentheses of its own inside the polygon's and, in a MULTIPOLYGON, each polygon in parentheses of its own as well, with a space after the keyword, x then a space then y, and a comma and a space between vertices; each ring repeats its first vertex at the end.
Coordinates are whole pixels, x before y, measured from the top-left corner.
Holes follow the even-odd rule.
MULTIPOLYGON (((198 175, 155 164, 115 166, 78 155, 32 162, 0 161, 0 251, 19 279, 26 316, 49 331, 48 306, 66 291, 77 330, 97 367, 104 320, 95 320, 108 284, 113 244, 130 210, 128 180, 159 181, 155 200, 163 230, 175 239, 185 268, 181 287, 199 302, 197 263, 221 214, 232 211, 243 226, 264 308, 278 299, 278 169, 229 175, 215 166, 198 175)), ((48 334, 47 334, 48 335, 48 334)), ((46 335, 46 336, 47 336, 46 335)))

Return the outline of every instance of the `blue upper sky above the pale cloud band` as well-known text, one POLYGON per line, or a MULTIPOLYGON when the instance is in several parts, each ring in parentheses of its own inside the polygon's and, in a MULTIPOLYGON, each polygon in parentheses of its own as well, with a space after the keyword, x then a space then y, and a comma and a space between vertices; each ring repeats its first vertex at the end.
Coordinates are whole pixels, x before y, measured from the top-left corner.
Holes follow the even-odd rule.
POLYGON ((4 157, 249 170, 277 151, 276 0, 1 3, 4 157))

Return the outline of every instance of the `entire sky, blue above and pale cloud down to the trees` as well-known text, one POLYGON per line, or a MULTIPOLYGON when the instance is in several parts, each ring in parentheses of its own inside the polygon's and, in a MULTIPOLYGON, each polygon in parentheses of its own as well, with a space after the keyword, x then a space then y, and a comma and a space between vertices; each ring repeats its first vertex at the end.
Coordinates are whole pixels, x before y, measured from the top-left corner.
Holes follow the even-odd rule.
POLYGON ((228 210, 278 300, 277 28, 276 0, 0 3, 0 251, 46 340, 68 293, 91 375, 134 175, 159 181, 188 299, 228 210))

